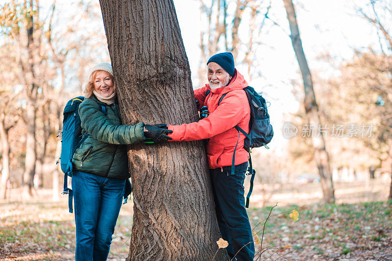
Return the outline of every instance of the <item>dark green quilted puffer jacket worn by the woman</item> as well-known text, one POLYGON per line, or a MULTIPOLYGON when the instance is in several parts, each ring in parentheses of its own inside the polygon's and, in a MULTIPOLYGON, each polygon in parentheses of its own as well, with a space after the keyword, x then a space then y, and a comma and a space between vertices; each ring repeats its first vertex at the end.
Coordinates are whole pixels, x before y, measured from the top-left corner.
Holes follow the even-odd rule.
POLYGON ((129 178, 125 144, 145 140, 144 123, 121 125, 118 103, 107 105, 94 95, 84 99, 78 112, 82 135, 89 135, 73 154, 73 169, 108 178, 129 178), (105 106, 106 115, 99 104, 105 106))

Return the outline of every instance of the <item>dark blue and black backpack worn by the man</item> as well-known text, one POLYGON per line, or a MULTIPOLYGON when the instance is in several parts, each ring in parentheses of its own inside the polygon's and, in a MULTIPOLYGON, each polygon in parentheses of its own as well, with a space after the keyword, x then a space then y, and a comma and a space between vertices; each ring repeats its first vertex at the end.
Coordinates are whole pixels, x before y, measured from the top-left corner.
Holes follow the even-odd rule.
MULTIPOLYGON (((256 174, 256 171, 252 167, 252 158, 250 156, 250 151, 252 148, 257 148, 261 146, 265 146, 266 148, 269 148, 267 144, 270 143, 270 141, 272 140, 273 129, 270 123, 270 115, 268 114, 266 99, 263 98, 263 96, 259 95, 253 89, 253 87, 248 86, 245 87, 243 90, 245 91, 250 107, 249 133, 246 133, 238 125, 236 125, 235 128, 238 131, 238 139, 240 139, 240 132, 245 135, 246 138, 244 141, 244 148, 249 152, 249 167, 247 169, 249 173, 246 173, 246 175, 252 175, 252 176, 250 178, 249 192, 246 195, 245 208, 248 208, 249 198, 253 191, 253 181, 256 174)), ((206 96, 209 93, 210 90, 206 92, 206 96)), ((221 96, 218 102, 218 106, 221 104, 221 101, 226 94, 227 93, 221 96)), ((234 148, 233 161, 231 164, 231 174, 234 174, 234 162, 235 162, 237 145, 238 145, 238 140, 234 148)))

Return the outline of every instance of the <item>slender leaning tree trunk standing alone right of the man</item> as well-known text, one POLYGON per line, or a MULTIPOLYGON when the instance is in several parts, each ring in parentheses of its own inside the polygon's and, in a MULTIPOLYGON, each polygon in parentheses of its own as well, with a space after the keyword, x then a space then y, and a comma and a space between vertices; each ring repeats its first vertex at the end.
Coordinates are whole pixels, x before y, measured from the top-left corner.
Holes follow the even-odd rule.
MULTIPOLYGON (((295 17, 294 5, 292 0, 283 0, 287 18, 290 24, 291 41, 293 43, 294 52, 298 60, 299 68, 302 73, 302 79, 305 90, 305 111, 309 124, 312 126, 320 126, 319 108, 316 103, 316 96, 313 90, 312 75, 310 73, 305 53, 302 48, 301 38, 299 36, 298 24, 295 17)), ((329 166, 329 157, 325 149, 325 141, 322 134, 319 135, 318 129, 312 135, 313 147, 315 148, 315 161, 319 168, 321 178, 321 187, 326 203, 335 202, 335 192, 332 183, 331 168, 329 166)))

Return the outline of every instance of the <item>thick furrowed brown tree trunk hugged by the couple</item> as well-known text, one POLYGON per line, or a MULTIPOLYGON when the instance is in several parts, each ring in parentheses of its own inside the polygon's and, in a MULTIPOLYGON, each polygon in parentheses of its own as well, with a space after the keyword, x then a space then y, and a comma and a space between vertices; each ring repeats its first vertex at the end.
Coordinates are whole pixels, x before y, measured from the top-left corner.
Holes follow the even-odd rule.
MULTIPOLYGON (((172 0, 100 0, 124 124, 189 123, 196 105, 172 0)), ((127 261, 210 261, 220 237, 202 142, 128 146, 127 261)), ((220 250, 215 260, 228 260, 220 250)))

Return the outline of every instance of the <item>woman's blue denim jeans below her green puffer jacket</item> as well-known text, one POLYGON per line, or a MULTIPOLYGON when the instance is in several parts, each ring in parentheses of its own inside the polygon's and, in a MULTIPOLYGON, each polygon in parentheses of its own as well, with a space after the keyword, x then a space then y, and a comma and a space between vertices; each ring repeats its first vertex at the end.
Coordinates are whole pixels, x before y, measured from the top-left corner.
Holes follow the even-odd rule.
POLYGON ((105 261, 124 194, 125 180, 74 171, 76 261, 105 261))

